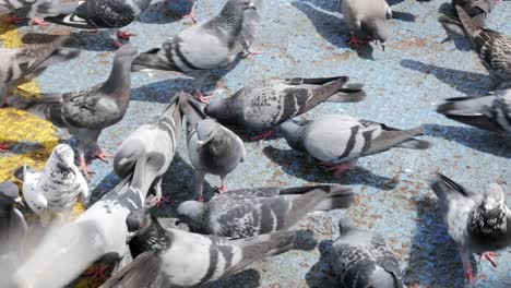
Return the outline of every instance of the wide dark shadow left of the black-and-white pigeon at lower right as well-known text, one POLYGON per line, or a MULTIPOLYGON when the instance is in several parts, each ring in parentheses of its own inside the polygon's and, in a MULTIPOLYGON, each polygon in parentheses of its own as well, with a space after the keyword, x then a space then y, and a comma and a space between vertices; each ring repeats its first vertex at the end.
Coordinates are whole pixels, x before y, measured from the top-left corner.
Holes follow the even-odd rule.
MULTIPOLYGON (((463 287, 463 265, 456 247, 439 217, 438 202, 426 199, 416 203, 417 225, 411 241, 404 283, 419 287, 463 287)), ((476 266, 473 266, 474 268, 476 266)))

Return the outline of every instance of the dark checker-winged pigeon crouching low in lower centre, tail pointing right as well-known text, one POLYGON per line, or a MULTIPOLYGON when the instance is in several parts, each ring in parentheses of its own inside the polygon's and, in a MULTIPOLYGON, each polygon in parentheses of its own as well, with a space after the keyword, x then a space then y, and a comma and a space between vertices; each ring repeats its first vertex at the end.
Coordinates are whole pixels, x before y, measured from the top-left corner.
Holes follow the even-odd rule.
POLYGON ((288 229, 310 212, 347 208, 354 200, 342 185, 270 187, 229 191, 207 203, 186 201, 177 213, 191 232, 247 238, 288 229))

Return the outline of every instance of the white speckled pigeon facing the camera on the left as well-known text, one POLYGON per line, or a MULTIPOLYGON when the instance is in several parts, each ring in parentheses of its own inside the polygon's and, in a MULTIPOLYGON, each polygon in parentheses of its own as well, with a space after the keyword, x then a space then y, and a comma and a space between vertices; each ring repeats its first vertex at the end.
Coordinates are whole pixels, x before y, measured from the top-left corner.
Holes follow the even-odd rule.
POLYGON ((52 213, 60 213, 66 218, 76 201, 84 206, 88 204, 88 185, 74 165, 74 152, 69 145, 57 145, 40 172, 23 166, 23 196, 45 227, 52 213))

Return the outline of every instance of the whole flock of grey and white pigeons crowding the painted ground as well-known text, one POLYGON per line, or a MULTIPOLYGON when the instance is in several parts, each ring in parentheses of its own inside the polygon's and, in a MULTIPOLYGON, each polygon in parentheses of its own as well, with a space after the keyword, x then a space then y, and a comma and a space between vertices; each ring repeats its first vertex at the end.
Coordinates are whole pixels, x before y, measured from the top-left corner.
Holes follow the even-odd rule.
MULTIPOLYGON (((448 99, 437 111, 480 129, 511 132, 511 37, 484 27, 496 1, 452 2, 452 13, 439 21, 449 33, 466 36, 494 85, 488 95, 448 99)), ((35 24, 46 21, 78 28, 108 28, 112 31, 110 35, 126 38, 129 33, 118 29, 134 21, 150 4, 151 0, 0 0, 0 13, 29 7, 35 24)), ((392 17, 384 0, 343 0, 340 7, 350 27, 352 45, 375 40, 384 47, 389 36, 387 21, 392 17)), ((353 204, 353 191, 333 184, 227 191, 226 176, 246 158, 243 142, 231 127, 249 133, 262 132, 261 141, 277 131, 292 148, 321 161, 335 177, 354 167, 359 157, 393 147, 430 147, 428 141, 415 139, 423 134, 421 128, 400 130, 344 115, 292 121, 325 101, 363 100, 363 85, 349 83, 347 76, 265 81, 209 103, 210 96, 204 96, 201 88, 211 71, 257 53, 252 46, 260 8, 259 0, 228 0, 216 17, 193 25, 159 48, 143 53, 116 38, 120 48, 109 77, 82 92, 34 98, 10 93, 10 88, 40 74, 48 65, 78 56, 80 51, 61 47, 68 36, 57 36, 51 43, 34 48, 0 49, 2 101, 67 129, 79 141, 80 166, 74 163, 73 149, 59 144, 43 171, 24 166, 15 172, 23 181, 24 201, 43 226, 67 219, 76 201, 88 204, 91 170, 85 147, 96 143, 103 129, 123 118, 130 103, 131 72, 177 71, 195 80, 194 97, 187 93, 175 95, 157 122, 140 127, 123 141, 114 160, 115 172, 124 179, 120 185, 129 183, 142 201, 154 187, 155 195, 146 200, 146 206, 159 206, 164 200, 162 178, 174 158, 186 119, 198 201, 183 202, 177 212, 179 221, 187 224, 189 231, 164 229, 147 207, 133 204, 124 218, 133 262, 115 273, 103 287, 190 287, 233 274, 266 256, 313 249, 316 241, 310 231, 287 229, 307 213, 347 208, 353 204), (219 193, 207 203, 202 196, 205 175, 222 180, 219 193)), ((195 20, 194 13, 190 17, 195 20)), ((94 157, 106 161, 108 156, 96 145, 94 157)), ((447 229, 457 245, 465 278, 474 283, 471 254, 478 253, 496 265, 494 251, 511 242, 511 211, 506 206, 503 189, 489 184, 483 193, 473 192, 440 173, 431 189, 440 200, 447 229)), ((15 259, 27 253, 20 244, 27 227, 23 214, 14 206, 23 201, 17 187, 10 182, 1 183, 0 192, 0 260, 2 267, 14 271, 19 263, 15 259)), ((333 244, 331 264, 342 287, 403 287, 399 262, 380 235, 359 229, 349 219, 341 219, 338 226, 341 237, 333 244)), ((24 287, 15 283, 12 286, 24 287)))

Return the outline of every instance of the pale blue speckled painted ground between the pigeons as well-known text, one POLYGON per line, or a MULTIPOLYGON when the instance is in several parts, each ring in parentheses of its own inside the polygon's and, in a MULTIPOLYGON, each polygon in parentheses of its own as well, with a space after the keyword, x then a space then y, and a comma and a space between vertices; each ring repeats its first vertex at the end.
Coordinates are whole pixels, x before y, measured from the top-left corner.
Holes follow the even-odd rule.
MULTIPOLYGON (((140 50, 157 47, 190 25, 179 17, 186 11, 187 1, 178 2, 157 2, 138 23, 129 26, 138 35, 131 41, 140 50)), ((217 13, 223 2, 199 0, 199 19, 206 20, 217 13)), ((488 181, 511 183, 511 145, 497 135, 435 112, 443 98, 485 93, 489 85, 487 72, 463 40, 440 44, 445 34, 437 15, 445 1, 391 1, 399 19, 391 21, 393 37, 385 51, 375 46, 358 52, 345 44, 347 27, 337 12, 337 1, 263 2, 259 37, 263 55, 240 61, 227 74, 218 71, 217 77, 225 75, 216 84, 217 95, 229 95, 255 80, 270 77, 349 75, 353 81, 366 83, 365 101, 324 104, 305 118, 348 113, 397 128, 427 124, 426 139, 435 146, 428 151, 393 149, 363 158, 359 169, 347 172, 338 181, 316 167, 310 158, 290 151, 282 139, 266 141, 261 146, 247 143, 247 160, 227 178, 231 189, 341 182, 352 185, 359 197, 347 212, 314 214, 299 224, 313 229, 321 241, 320 249, 268 259, 211 286, 333 287, 326 252, 330 240, 338 235, 340 216, 348 214, 360 226, 375 229, 388 239, 401 261, 406 283, 418 281, 420 287, 462 287, 461 260, 438 216, 429 180, 435 171, 442 171, 474 190, 480 190, 488 181)), ((489 27, 511 34, 511 1, 497 5, 489 27)), ((20 28, 23 35, 62 31, 66 28, 52 25, 20 28)), ((79 34, 80 46, 85 51, 75 61, 49 69, 38 81, 40 91, 76 91, 104 81, 112 58, 112 48, 105 36, 105 33, 79 34)), ((190 89, 190 80, 179 74, 135 73, 132 79, 133 100, 128 113, 99 139, 99 144, 110 152, 136 127, 157 117, 171 95, 190 89)), ((13 155, 37 148, 37 145, 16 145, 13 155)), ((118 178, 111 165, 96 160, 91 168, 96 172, 91 187, 98 199, 118 178)), ((159 217, 173 217, 176 206, 193 196, 191 179, 192 168, 181 145, 164 181, 164 193, 171 203, 158 209, 159 217)), ((219 180, 207 178, 207 181, 211 195, 212 187, 219 180)), ((511 204, 510 190, 507 195, 511 204)), ((497 268, 474 260, 478 269, 477 287, 511 287, 509 252, 509 249, 501 251, 497 268)))

